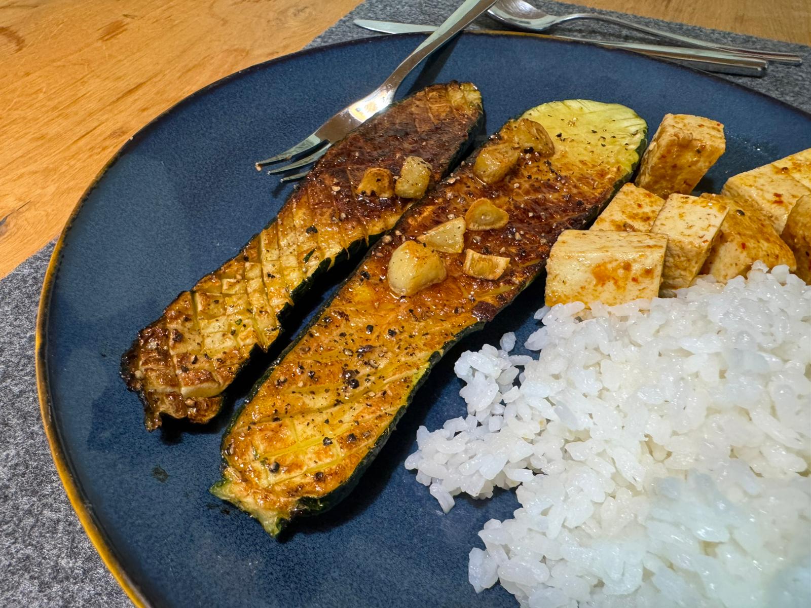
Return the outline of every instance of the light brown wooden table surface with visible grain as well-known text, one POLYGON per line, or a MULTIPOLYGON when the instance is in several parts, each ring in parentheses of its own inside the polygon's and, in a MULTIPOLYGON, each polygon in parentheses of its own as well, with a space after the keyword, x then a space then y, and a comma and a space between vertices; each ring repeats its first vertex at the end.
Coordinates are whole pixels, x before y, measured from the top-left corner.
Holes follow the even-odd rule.
MULTIPOLYGON (((0 0, 0 277, 110 156, 205 84, 301 49, 359 0, 0 0)), ((811 44, 809 0, 581 0, 811 44)))

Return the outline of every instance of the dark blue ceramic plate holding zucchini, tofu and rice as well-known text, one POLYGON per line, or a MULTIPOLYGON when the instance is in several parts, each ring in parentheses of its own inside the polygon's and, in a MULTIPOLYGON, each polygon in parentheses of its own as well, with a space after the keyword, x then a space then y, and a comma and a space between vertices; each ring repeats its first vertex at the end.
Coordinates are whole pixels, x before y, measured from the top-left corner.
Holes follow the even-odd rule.
MULTIPOLYGON (((531 313, 542 304, 543 285, 457 345, 350 497, 324 516, 296 522, 283 542, 208 494, 233 405, 208 426, 166 424, 148 434, 138 398, 118 377, 119 358, 137 330, 234 255, 290 194, 290 186, 257 173, 254 161, 363 96, 420 40, 388 36, 294 54, 205 88, 127 142, 63 233, 39 319, 45 428, 74 507, 136 603, 515 605, 498 586, 477 595, 467 582, 476 533, 491 517, 510 516, 513 494, 460 498, 443 515, 403 461, 420 424, 436 428, 465 411, 453 360, 503 332, 517 331, 521 343, 535 328, 531 313)), ((726 126, 727 153, 702 183, 705 190, 811 142, 811 116, 798 109, 594 46, 466 34, 412 75, 401 94, 450 79, 481 89, 487 131, 531 106, 577 97, 629 105, 651 132, 667 112, 715 118, 726 126)), ((307 313, 323 298, 311 298, 307 313)), ((247 392, 273 354, 241 376, 234 396, 247 392)))

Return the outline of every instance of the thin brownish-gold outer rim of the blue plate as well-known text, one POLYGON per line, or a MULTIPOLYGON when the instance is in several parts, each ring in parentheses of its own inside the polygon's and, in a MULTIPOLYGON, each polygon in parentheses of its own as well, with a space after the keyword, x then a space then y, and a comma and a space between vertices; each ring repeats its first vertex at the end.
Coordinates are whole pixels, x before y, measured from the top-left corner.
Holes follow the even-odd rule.
MULTIPOLYGON (((462 36, 467 35, 528 36, 531 38, 540 39, 542 41, 553 42, 557 45, 597 46, 591 45, 588 42, 581 41, 560 41, 551 38, 550 36, 533 32, 506 32, 491 29, 481 29, 462 32, 462 36)), ((182 107, 182 105, 190 103, 198 96, 204 95, 206 92, 212 90, 213 88, 223 86, 226 83, 229 83, 232 79, 237 79, 239 76, 246 75, 248 73, 251 73, 252 71, 258 71, 264 69, 267 66, 276 65, 278 63, 284 63, 292 59, 303 57, 306 55, 320 53, 324 50, 344 46, 362 45, 375 39, 387 40, 390 38, 405 38, 405 37, 416 38, 418 36, 423 35, 418 33, 385 34, 382 36, 381 35, 364 36, 362 38, 354 38, 353 40, 350 41, 334 42, 328 45, 318 45, 308 49, 301 49, 295 51, 294 53, 285 54, 279 57, 268 59, 267 61, 264 62, 255 63, 251 66, 244 67, 241 70, 234 71, 229 75, 225 75, 222 78, 213 81, 212 83, 206 84, 204 87, 197 89, 190 95, 187 95, 183 97, 181 100, 175 102, 173 105, 170 105, 161 113, 158 113, 155 117, 153 117, 143 126, 141 126, 138 129, 138 131, 135 131, 135 133, 131 135, 131 137, 127 139, 127 141, 122 143, 121 147, 118 148, 118 150, 114 152, 112 156, 109 157, 109 159, 105 162, 104 165, 102 165, 101 169, 99 169, 99 172, 96 174, 96 176, 92 178, 92 181, 89 183, 88 187, 84 190, 82 195, 79 196, 79 200, 75 203, 75 206, 71 211, 71 215, 68 216, 68 219, 64 227, 59 233, 57 242, 54 245, 54 251, 51 253, 48 266, 45 269, 45 276, 43 278, 42 289, 40 292, 40 302, 39 306, 37 307, 36 327, 34 331, 36 393, 40 404, 40 416, 42 420, 42 426, 45 430, 45 438, 48 440, 49 451, 51 453, 51 458, 54 460, 54 465, 56 467, 59 480, 60 482, 62 482, 62 487, 64 487, 65 489, 67 499, 71 503, 71 507, 73 508, 76 516, 78 516, 79 518, 79 523, 82 525, 84 533, 86 533, 87 536, 89 537, 90 542, 92 542, 93 547, 97 550, 97 553, 101 557, 101 561, 105 564, 105 567, 107 567, 109 572, 114 576, 114 579, 116 580, 118 585, 123 589, 124 593, 127 594, 127 597, 129 597, 130 601, 133 604, 135 604, 135 606, 137 606, 138 608, 154 608, 155 605, 152 603, 150 599, 148 599, 146 593, 144 593, 144 591, 139 587, 139 584, 135 583, 135 580, 131 578, 130 574, 122 566, 122 563, 118 557, 118 551, 114 549, 113 543, 109 541, 108 534, 106 534, 105 531, 101 528, 101 525, 97 521, 96 516, 92 512, 92 505, 90 504, 90 502, 86 497, 84 488, 80 486, 75 479, 74 471, 71 468, 71 464, 69 463, 69 459, 67 457, 67 449, 62 444, 62 438, 59 435, 58 429, 54 424, 54 416, 53 416, 54 405, 53 401, 50 399, 51 391, 49 386, 48 365, 45 358, 46 357, 45 350, 48 343, 45 329, 49 317, 51 292, 54 287, 54 280, 56 278, 56 274, 61 265, 62 246, 65 243, 67 233, 70 232, 76 217, 79 216, 79 212, 81 212, 82 208, 84 207, 84 203, 87 201, 92 191, 96 188, 101 178, 105 176, 105 173, 107 173, 109 167, 113 165, 116 161, 118 161, 118 158, 122 156, 124 152, 127 152, 129 148, 131 148, 131 146, 135 145, 135 143, 137 143, 138 140, 147 133, 147 131, 149 131, 157 122, 161 121, 167 114, 174 113, 178 108, 182 107)), ((605 49, 603 47, 599 48, 625 56, 629 54, 633 54, 637 58, 640 56, 640 54, 625 49, 605 49)), ((749 95, 765 97, 771 103, 783 105, 787 109, 790 109, 800 114, 804 114, 805 117, 811 120, 811 113, 805 111, 805 109, 798 108, 795 105, 787 103, 786 101, 767 95, 766 93, 756 91, 735 81, 727 80, 718 75, 710 74, 706 71, 698 70, 690 66, 684 66, 678 63, 667 62, 659 58, 645 56, 643 56, 643 58, 654 62, 668 63, 670 66, 673 66, 676 69, 697 73, 698 75, 702 75, 705 78, 715 80, 727 86, 742 89, 749 95)))

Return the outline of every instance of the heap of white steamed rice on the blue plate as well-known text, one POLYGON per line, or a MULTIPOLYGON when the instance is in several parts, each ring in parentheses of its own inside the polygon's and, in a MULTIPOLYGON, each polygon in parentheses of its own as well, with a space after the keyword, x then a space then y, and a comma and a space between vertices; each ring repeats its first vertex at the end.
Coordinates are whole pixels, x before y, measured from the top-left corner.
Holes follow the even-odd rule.
MULTIPOLYGON (((467 417, 405 466, 445 512, 515 488, 470 550, 521 606, 811 606, 811 288, 756 264, 677 298, 538 311, 456 363, 467 417), (523 371, 521 371, 521 369, 523 371), (542 474, 543 472, 543 474, 542 474)), ((473 539, 471 539, 471 543, 473 539)))

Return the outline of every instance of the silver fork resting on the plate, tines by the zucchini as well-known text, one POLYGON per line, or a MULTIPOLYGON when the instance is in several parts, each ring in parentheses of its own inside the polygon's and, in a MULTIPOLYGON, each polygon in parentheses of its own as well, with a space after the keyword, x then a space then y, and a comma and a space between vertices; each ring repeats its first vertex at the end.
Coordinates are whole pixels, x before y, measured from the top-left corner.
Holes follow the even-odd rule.
MULTIPOLYGON (((353 101, 347 105, 340 112, 335 114, 323 125, 318 127, 311 135, 307 135, 302 141, 296 143, 292 148, 266 158, 264 161, 256 163, 256 169, 261 170, 267 165, 272 165, 280 161, 290 161, 294 156, 298 156, 305 152, 311 152, 314 148, 318 148, 308 156, 304 156, 298 161, 291 162, 289 165, 283 165, 275 169, 270 169, 268 173, 281 173, 289 171, 290 169, 298 169, 309 165, 311 162, 317 161, 321 156, 327 152, 328 148, 342 139, 347 133, 352 131, 356 126, 367 121, 369 118, 380 112, 381 109, 387 108, 394 100, 394 94, 397 88, 400 87, 405 76, 418 65, 419 62, 427 58, 428 55, 439 49, 453 36, 461 32, 471 21, 476 19, 484 11, 487 11, 496 0, 466 0, 462 2, 461 6, 453 11, 453 14, 445 19, 444 23, 436 29, 436 32, 428 36, 423 44, 419 45, 412 53, 403 59, 401 64, 395 68, 384 83, 380 87, 375 88, 374 91, 358 101, 353 101)), ((289 182, 290 180, 303 178, 307 171, 289 175, 282 178, 282 182, 289 182)))

